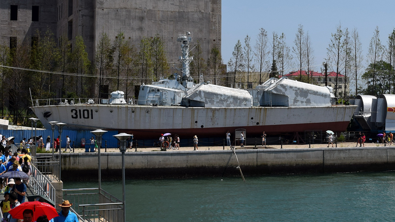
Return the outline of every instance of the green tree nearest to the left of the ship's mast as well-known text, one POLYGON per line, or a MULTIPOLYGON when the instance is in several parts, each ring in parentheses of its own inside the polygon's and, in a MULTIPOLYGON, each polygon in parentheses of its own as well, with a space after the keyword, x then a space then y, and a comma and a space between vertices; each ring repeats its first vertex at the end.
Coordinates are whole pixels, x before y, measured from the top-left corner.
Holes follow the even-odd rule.
POLYGON ((164 47, 164 41, 156 34, 151 41, 151 59, 152 59, 152 71, 158 79, 158 75, 166 76, 169 74, 169 64, 167 63, 167 56, 164 47))

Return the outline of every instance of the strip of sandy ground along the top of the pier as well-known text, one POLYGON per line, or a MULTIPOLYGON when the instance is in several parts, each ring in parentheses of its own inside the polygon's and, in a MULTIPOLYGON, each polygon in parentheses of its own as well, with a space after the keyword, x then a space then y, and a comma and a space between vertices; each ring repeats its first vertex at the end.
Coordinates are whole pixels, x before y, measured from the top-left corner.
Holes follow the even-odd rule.
MULTIPOLYGON (((353 142, 344 142, 344 143, 337 143, 337 147, 355 147, 356 143, 353 142)), ((333 145, 334 147, 336 147, 336 145, 333 145)), ((377 146, 381 146, 384 147, 383 144, 376 144, 376 143, 365 143, 365 147, 377 147, 377 146)), ((327 144, 312 144, 310 145, 311 148, 323 148, 323 147, 327 147, 327 144)), ((332 147, 331 145, 329 147, 332 147)), ((254 145, 252 146, 245 146, 245 147, 240 147, 240 146, 236 146, 236 149, 254 149, 254 145)), ((267 147, 262 147, 262 145, 257 145, 258 149, 280 149, 281 145, 267 145, 267 147)), ((287 144, 287 145, 282 145, 282 149, 303 149, 303 148, 309 148, 308 144, 287 144)), ((222 149, 230 149, 230 147, 223 147, 223 146, 207 146, 207 147, 201 147, 198 146, 198 150, 199 151, 207 151, 207 150, 222 150, 222 149)), ((62 149, 62 151, 64 150, 64 148, 62 149)), ((172 152, 172 151, 193 151, 194 148, 193 147, 180 147, 179 150, 173 150, 173 149, 167 149, 167 152, 172 152)), ((148 148, 139 148, 137 147, 137 152, 149 152, 149 151, 160 151, 159 147, 148 147, 148 148)), ((68 153, 70 151, 67 151, 66 153, 68 153)), ((73 151, 71 151, 73 152, 73 151)), ((85 152, 85 149, 75 149, 74 152, 85 152)), ((102 148, 101 152, 105 152, 105 149, 102 148)), ((115 148, 108 148, 107 152, 119 152, 119 149, 115 149, 115 148)), ((132 149, 127 149, 127 152, 135 152, 135 148, 132 149)))

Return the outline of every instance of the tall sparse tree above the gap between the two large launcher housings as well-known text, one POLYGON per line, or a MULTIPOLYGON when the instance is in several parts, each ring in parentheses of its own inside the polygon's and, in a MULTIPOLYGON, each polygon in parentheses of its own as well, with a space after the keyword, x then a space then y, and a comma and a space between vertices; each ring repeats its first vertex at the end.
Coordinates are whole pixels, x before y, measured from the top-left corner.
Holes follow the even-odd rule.
POLYGON ((259 29, 258 37, 254 46, 254 55, 259 68, 259 84, 262 83, 262 70, 265 69, 265 62, 269 51, 267 50, 267 32, 263 28, 259 29))

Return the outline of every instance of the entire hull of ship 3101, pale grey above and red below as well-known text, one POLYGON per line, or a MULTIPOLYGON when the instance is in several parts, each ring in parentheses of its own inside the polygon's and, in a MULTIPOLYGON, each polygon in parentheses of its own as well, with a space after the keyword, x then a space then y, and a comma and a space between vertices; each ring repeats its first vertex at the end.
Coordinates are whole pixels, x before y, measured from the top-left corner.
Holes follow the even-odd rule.
POLYGON ((143 105, 47 105, 31 107, 46 128, 47 122, 66 123, 70 130, 119 130, 139 139, 169 132, 180 136, 222 137, 226 130, 247 134, 345 131, 356 106, 203 108, 143 105))

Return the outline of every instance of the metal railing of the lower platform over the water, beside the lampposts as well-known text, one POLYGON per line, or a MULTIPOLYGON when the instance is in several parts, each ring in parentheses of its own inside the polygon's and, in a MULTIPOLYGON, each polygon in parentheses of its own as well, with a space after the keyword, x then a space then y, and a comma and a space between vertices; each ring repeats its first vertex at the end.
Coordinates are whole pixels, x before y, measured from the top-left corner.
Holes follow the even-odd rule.
POLYGON ((62 191, 64 199, 73 203, 74 210, 84 221, 124 222, 122 201, 102 188, 63 189, 62 191))

